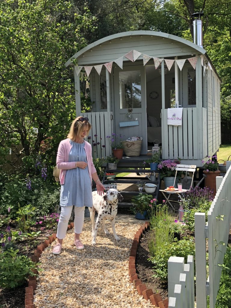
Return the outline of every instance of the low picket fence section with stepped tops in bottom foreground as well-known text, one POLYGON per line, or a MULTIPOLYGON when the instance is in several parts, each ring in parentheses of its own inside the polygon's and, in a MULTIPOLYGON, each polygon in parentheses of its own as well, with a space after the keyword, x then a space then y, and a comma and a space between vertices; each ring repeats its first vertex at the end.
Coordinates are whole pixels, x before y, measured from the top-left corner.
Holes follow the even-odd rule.
POLYGON ((194 308, 194 260, 168 259, 168 308, 194 308))

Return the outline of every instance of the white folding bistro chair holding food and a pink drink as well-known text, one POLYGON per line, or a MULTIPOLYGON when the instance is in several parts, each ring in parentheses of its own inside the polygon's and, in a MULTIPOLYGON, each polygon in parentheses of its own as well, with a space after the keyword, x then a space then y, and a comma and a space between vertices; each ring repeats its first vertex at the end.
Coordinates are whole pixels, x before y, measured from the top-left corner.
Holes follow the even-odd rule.
MULTIPOLYGON (((177 171, 186 171, 186 172, 193 172, 193 176, 192 176, 192 182, 191 182, 191 185, 190 185, 190 188, 193 186, 193 177, 194 177, 194 173, 196 171, 196 168, 197 166, 196 165, 176 165, 176 174, 175 174, 175 179, 174 179, 174 184, 173 186, 175 185, 176 183, 176 176, 177 176, 177 171)), ((187 173, 186 173, 187 174, 187 173)), ((189 189, 190 189, 189 188, 189 189)), ((174 200, 170 200, 170 196, 171 195, 178 195, 178 197, 180 198, 180 200, 182 200, 181 196, 182 194, 184 194, 185 192, 187 192, 189 189, 182 189, 182 191, 179 191, 179 190, 175 190, 175 191, 168 191, 166 189, 160 189, 161 193, 163 194, 163 196, 165 197, 166 199, 166 204, 168 203, 172 209, 175 211, 175 208, 174 206, 172 205, 171 202, 175 202, 175 203, 179 203, 179 201, 174 201, 174 200), (168 197, 165 195, 168 194, 168 197)))

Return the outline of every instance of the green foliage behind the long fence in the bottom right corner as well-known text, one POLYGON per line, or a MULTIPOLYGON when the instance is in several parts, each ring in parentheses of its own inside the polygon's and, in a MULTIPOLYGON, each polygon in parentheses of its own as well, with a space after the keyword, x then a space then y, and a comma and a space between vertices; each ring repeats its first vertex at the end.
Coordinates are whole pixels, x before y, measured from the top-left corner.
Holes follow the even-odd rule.
POLYGON ((222 273, 217 294, 216 308, 229 308, 231 306, 231 247, 227 246, 224 264, 221 265, 222 273))

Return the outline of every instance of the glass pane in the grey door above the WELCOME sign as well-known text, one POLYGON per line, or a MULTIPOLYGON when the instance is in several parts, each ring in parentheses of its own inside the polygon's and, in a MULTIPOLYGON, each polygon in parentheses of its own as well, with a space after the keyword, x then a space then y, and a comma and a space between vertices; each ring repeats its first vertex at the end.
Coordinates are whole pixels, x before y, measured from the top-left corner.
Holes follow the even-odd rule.
POLYGON ((141 108, 141 77, 140 71, 121 71, 120 109, 141 108))

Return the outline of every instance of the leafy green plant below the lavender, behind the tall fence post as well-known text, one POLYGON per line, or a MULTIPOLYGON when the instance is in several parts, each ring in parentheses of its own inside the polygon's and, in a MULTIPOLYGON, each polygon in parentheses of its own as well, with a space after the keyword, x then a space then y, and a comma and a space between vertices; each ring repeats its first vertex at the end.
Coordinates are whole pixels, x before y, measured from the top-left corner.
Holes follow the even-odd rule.
POLYGON ((193 208, 193 209, 190 209, 184 212, 185 227, 191 233, 194 233, 195 231, 195 220, 194 220, 195 213, 205 213, 205 221, 207 222, 208 221, 208 211, 209 211, 210 205, 211 205, 211 202, 207 201, 205 203, 200 204, 198 208, 193 208))

